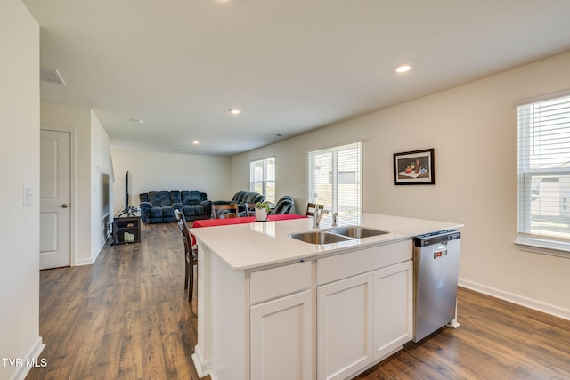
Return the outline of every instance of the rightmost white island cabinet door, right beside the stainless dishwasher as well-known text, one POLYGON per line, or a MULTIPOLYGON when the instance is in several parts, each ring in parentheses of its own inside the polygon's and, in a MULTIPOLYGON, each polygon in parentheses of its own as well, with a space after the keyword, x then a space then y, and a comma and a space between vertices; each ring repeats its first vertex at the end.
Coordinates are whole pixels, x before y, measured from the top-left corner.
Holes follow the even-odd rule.
POLYGON ((374 275, 374 360, 411 341, 413 264, 398 263, 374 275))

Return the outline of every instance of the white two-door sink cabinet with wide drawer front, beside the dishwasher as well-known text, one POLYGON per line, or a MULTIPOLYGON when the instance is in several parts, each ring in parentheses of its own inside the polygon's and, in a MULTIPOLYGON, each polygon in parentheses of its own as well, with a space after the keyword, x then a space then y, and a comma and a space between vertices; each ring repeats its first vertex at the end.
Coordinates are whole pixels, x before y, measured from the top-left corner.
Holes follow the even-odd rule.
POLYGON ((412 273, 410 241, 317 260, 318 379, 354 375, 411 340, 412 273))

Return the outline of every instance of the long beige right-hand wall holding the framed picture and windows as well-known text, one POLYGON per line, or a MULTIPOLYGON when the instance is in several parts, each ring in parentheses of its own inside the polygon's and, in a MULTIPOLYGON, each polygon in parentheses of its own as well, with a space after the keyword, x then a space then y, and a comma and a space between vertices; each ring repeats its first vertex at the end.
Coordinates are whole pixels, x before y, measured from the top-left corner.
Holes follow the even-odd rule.
POLYGON ((305 152, 363 141, 365 212, 465 223, 463 286, 570 319, 570 259, 513 245, 513 102, 565 89, 570 89, 570 53, 235 156, 233 188, 248 186, 250 160, 274 154, 278 197, 293 196, 303 211, 305 152), (393 154, 427 148, 436 149, 436 185, 395 186, 393 154))

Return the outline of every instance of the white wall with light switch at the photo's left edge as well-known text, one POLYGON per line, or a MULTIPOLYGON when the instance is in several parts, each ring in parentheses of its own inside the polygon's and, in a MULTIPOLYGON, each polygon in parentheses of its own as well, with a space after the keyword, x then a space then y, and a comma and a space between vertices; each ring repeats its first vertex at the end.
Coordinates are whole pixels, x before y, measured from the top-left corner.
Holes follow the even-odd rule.
MULTIPOLYGON (((39 349, 39 27, 20 0, 0 12, 0 358, 39 349), (33 204, 23 206, 23 187, 33 204)), ((36 352, 37 354, 37 352, 36 352)), ((29 368, 4 366, 0 379, 29 368)))

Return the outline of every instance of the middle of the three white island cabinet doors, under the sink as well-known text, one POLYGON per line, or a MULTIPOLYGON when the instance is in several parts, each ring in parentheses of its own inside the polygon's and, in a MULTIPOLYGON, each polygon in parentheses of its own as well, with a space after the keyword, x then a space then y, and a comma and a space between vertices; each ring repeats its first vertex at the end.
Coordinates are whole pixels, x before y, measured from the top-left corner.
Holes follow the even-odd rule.
POLYGON ((372 273, 317 288, 317 378, 344 379, 372 362, 372 273))

